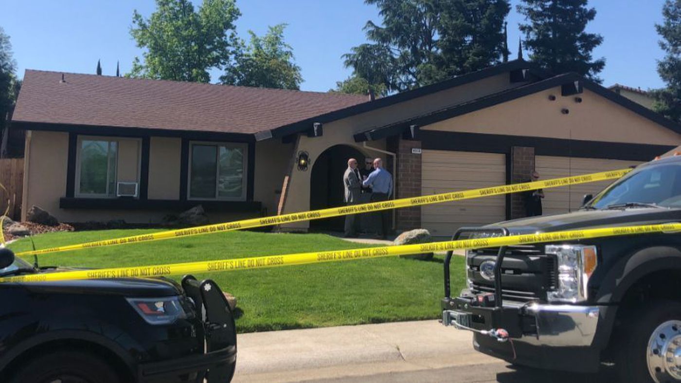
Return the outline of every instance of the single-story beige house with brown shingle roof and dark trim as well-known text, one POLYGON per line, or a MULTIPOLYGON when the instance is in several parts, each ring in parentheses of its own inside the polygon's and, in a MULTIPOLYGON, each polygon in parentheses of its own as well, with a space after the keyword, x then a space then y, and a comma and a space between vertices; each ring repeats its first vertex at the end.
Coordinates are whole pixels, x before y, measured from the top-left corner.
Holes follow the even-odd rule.
MULTIPOLYGON (((659 114, 522 60, 373 100, 28 70, 12 128, 27 131, 24 215, 35 204, 61 221, 140 224, 197 204, 215 222, 339 206, 348 157, 385 159, 407 198, 527 181, 533 169, 547 179, 626 168, 681 143, 659 114)), ((601 187, 547 190, 545 213, 601 187)), ((492 196, 394 221, 449 236, 520 215, 519 196, 492 196)))

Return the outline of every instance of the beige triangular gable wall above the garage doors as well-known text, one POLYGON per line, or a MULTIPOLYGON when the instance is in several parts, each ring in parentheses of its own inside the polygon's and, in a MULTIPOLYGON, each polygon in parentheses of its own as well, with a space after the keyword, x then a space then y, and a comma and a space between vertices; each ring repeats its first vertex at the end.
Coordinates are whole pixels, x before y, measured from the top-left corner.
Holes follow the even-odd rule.
POLYGON ((560 87, 422 127, 424 130, 674 145, 681 135, 596 93, 560 96, 560 87), (556 95, 555 101, 549 95, 556 95), (569 109, 562 114, 561 109, 569 109))

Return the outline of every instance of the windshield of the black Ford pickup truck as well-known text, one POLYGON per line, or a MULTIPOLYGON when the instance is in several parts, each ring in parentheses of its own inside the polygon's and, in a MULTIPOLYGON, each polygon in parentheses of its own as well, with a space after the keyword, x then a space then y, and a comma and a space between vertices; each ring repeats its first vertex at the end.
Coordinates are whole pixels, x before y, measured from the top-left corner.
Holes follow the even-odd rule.
POLYGON ((587 204, 595 209, 625 205, 681 208, 681 164, 647 166, 634 171, 601 191, 587 204))

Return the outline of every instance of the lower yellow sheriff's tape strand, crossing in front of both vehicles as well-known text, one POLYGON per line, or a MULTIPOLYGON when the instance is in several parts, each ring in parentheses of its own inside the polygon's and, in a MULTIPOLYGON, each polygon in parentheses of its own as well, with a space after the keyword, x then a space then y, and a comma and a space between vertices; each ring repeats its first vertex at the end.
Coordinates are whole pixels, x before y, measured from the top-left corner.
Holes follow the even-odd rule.
POLYGON ((582 239, 602 238, 605 236, 649 234, 654 232, 671 233, 680 231, 681 224, 678 223, 644 226, 624 226, 618 228, 596 228, 585 230, 571 230, 563 232, 549 232, 541 234, 524 234, 493 238, 464 239, 459 241, 432 242, 417 245, 369 247, 364 249, 317 251, 313 253, 285 254, 279 256, 261 256, 176 264, 158 264, 154 266, 116 267, 113 269, 39 273, 19 275, 16 277, 0 278, 0 283, 63 281, 67 279, 163 277, 168 275, 185 275, 189 273, 209 273, 213 271, 263 269, 266 267, 291 266, 295 264, 311 264, 320 262, 334 262, 341 260, 359 260, 368 258, 402 256, 407 254, 421 254, 430 253, 434 251, 449 251, 456 249, 480 249, 485 247, 525 245, 530 243, 578 241, 582 239))

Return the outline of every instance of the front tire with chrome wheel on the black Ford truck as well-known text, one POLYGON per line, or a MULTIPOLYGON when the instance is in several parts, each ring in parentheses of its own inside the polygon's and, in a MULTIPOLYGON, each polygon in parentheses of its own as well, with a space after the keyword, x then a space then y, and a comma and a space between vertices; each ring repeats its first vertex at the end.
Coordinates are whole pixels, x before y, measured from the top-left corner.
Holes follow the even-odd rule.
POLYGON ((637 307, 623 324, 614 339, 620 382, 681 380, 681 302, 637 307))

